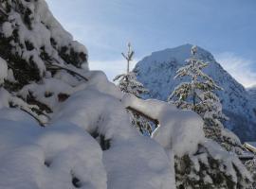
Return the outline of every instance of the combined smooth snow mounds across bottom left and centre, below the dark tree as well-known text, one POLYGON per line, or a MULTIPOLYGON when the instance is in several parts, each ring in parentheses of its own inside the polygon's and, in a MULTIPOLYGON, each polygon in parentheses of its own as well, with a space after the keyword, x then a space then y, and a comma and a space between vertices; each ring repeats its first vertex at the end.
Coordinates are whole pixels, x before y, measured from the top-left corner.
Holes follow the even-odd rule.
MULTIPOLYGON (((0 149, 0 173, 5 177, 0 187, 12 187, 15 180, 16 188, 72 188, 74 173, 82 188, 106 188, 106 183, 112 189, 175 188, 165 150, 130 126, 118 88, 101 72, 87 77, 81 91, 56 103, 45 129, 24 112, 1 110, 0 144, 5 145, 0 149), (91 137, 94 132, 110 140, 109 149, 101 149, 101 141, 91 137), (15 179, 9 177, 12 172, 15 179)), ((45 94, 45 87, 38 95, 45 94)))

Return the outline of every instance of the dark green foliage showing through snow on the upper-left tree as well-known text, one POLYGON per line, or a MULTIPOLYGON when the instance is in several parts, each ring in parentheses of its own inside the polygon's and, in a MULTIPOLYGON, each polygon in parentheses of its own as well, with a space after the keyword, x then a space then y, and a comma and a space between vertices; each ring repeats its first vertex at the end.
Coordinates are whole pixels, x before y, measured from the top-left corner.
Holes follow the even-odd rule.
MULTIPOLYGON (((1 4, 3 8, 5 8, 4 11, 6 12, 9 12, 10 9, 12 9, 20 13, 24 24, 28 29, 32 29, 32 12, 30 9, 24 7, 20 0, 2 0, 1 4)), ((0 14, 0 24, 2 25, 5 22, 9 22, 8 16, 5 14, 0 14)), ((0 33, 0 57, 7 60, 9 69, 12 70, 13 75, 17 80, 17 83, 15 84, 11 82, 5 84, 9 92, 19 91, 23 88, 23 86, 27 85, 31 81, 37 82, 44 77, 44 73, 43 76, 41 76, 40 70, 32 56, 29 58, 29 60, 25 60, 23 58, 23 51, 26 52, 34 50, 35 46, 28 40, 26 40, 25 43, 21 43, 19 35, 19 26, 15 26, 15 28, 13 28, 12 35, 9 38, 6 38, 3 33, 0 33), (20 48, 22 52, 18 51, 17 47, 20 48)), ((50 43, 59 52, 60 57, 63 58, 65 63, 70 63, 77 67, 81 67, 82 62, 87 60, 87 55, 82 52, 75 52, 71 45, 63 46, 58 49, 58 43, 53 38, 50 39, 50 43)), ((38 54, 42 60, 52 62, 51 57, 46 53, 45 48, 45 46, 41 46, 38 54)), ((55 73, 55 71, 51 72, 52 74, 55 73)))

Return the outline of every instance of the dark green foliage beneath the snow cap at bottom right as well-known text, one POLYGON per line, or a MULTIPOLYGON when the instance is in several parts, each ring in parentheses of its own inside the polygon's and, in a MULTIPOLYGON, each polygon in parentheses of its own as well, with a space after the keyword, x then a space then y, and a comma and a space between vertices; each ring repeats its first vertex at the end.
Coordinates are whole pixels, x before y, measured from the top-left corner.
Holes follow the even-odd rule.
POLYGON ((175 157, 174 168, 177 189, 244 189, 245 185, 242 183, 247 183, 247 188, 249 188, 250 181, 243 178, 234 164, 232 166, 238 178, 237 182, 232 180, 229 175, 227 165, 223 162, 225 160, 215 160, 203 146, 199 146, 199 149, 192 156, 175 157), (198 161, 198 164, 195 165, 192 159, 198 161))

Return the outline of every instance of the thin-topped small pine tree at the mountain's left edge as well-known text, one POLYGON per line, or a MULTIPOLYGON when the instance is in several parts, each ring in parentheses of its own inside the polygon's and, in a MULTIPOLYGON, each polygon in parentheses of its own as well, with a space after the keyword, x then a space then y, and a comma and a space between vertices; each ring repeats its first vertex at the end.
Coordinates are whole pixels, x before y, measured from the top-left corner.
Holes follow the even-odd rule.
MULTIPOLYGON (((135 52, 132 49, 131 43, 128 43, 128 51, 126 55, 121 53, 123 58, 127 61, 126 73, 115 77, 113 80, 118 81, 118 86, 121 92, 134 94, 135 96, 140 97, 141 94, 147 93, 148 90, 144 88, 142 83, 137 81, 136 74, 130 72, 130 63, 133 60, 134 54, 135 52)), ((130 114, 132 117, 132 125, 139 129, 141 133, 151 135, 153 129, 150 122, 137 112, 130 112, 130 114)))

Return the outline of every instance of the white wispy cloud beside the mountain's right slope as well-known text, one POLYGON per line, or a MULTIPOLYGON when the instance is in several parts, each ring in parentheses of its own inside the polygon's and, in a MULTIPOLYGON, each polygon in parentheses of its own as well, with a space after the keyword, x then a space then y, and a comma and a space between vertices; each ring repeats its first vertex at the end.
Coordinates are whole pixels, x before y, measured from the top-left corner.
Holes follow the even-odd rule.
POLYGON ((252 70, 253 61, 226 52, 216 55, 216 60, 226 69, 229 74, 245 87, 256 84, 256 72, 252 70))

